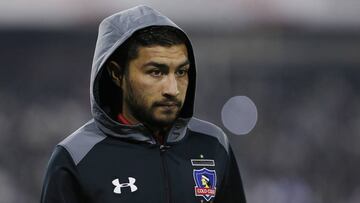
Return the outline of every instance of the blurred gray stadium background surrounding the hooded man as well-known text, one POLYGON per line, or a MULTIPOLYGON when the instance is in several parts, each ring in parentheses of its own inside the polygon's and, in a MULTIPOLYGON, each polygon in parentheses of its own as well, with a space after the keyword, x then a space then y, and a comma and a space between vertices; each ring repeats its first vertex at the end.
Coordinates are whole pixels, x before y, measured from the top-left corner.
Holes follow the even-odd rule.
POLYGON ((138 4, 190 35, 197 117, 256 104, 250 133, 226 130, 249 203, 360 202, 360 1, 2 0, 1 203, 39 202, 52 149, 91 118, 98 24, 138 4))

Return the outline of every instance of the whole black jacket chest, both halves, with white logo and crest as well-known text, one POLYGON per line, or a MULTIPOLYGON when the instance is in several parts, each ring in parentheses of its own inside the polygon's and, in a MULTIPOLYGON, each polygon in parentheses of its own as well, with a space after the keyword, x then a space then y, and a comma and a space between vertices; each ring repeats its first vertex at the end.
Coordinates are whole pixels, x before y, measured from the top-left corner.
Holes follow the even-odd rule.
POLYGON ((216 148, 105 143, 78 168, 94 202, 211 202, 222 179, 218 156, 216 148))

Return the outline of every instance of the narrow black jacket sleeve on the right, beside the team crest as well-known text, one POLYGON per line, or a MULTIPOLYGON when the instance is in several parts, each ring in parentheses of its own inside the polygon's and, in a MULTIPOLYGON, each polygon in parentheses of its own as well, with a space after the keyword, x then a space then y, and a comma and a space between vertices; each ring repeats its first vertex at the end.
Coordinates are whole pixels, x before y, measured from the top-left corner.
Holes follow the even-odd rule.
POLYGON ((216 193, 216 203, 246 203, 242 180, 234 154, 229 146, 229 160, 222 187, 216 193))

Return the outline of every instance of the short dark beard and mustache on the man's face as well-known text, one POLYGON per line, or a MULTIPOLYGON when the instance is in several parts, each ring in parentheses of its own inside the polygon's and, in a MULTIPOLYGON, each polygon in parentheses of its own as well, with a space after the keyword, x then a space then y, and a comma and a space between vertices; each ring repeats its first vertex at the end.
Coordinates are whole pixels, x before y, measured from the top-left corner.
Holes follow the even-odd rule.
POLYGON ((174 97, 164 97, 161 101, 154 101, 150 106, 146 105, 146 98, 141 91, 137 91, 131 84, 126 80, 127 94, 124 95, 124 102, 128 106, 129 112, 140 122, 145 125, 149 125, 155 128, 165 128, 171 126, 174 121, 178 118, 182 107, 182 102, 174 97), (164 105, 164 103, 173 102, 176 104, 177 111, 174 113, 173 110, 163 110, 156 115, 157 108, 164 105))

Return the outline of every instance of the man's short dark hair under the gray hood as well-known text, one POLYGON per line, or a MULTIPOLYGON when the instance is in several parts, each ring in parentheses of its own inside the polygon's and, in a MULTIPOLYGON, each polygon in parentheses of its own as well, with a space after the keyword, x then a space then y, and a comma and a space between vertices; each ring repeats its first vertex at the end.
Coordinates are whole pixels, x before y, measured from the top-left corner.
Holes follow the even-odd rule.
POLYGON ((123 70, 127 69, 129 62, 138 57, 139 47, 160 45, 170 47, 186 44, 186 36, 178 28, 171 26, 150 26, 136 31, 127 39, 110 57, 116 61, 123 70))

